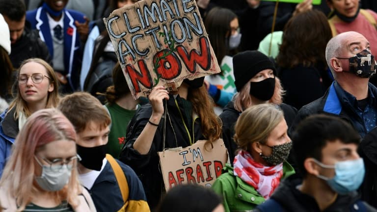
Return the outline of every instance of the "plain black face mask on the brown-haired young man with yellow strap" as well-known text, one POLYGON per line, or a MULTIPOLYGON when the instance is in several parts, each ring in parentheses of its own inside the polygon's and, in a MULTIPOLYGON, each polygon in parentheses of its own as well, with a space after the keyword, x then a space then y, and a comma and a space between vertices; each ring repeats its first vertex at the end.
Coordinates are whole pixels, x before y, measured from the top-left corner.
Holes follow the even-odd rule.
POLYGON ((81 157, 80 163, 87 169, 101 171, 102 161, 106 157, 106 145, 83 147, 76 145, 77 154, 81 157))

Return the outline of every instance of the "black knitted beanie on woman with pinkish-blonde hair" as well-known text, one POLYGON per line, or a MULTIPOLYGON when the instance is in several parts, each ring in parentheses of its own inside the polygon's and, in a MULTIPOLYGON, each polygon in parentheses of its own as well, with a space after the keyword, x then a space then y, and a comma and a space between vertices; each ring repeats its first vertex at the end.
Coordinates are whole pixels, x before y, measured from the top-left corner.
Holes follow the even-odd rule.
POLYGON ((272 69, 276 75, 273 62, 265 54, 258 51, 245 51, 233 56, 234 84, 238 92, 256 74, 265 69, 272 69))

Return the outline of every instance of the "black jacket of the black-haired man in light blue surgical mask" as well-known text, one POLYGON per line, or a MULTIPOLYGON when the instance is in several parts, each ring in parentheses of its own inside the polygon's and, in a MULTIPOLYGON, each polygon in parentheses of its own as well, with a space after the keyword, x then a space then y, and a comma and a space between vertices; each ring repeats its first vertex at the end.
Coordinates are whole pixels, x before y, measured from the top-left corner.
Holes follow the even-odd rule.
MULTIPOLYGON (((272 194, 270 199, 276 201, 282 210, 281 212, 321 212, 316 200, 307 194, 302 193, 297 189, 297 185, 301 185, 302 180, 298 175, 292 175, 282 181, 279 187, 272 194)), ((269 204, 267 200, 263 204, 269 204)), ((258 206, 253 212, 272 212, 276 211, 268 208, 262 210, 263 204, 258 206)), ((352 212, 352 211, 367 211, 377 212, 365 202, 360 201, 360 197, 357 192, 351 192, 348 195, 338 195, 335 202, 327 207, 323 212, 352 212), (361 207, 365 210, 361 210, 361 207)))

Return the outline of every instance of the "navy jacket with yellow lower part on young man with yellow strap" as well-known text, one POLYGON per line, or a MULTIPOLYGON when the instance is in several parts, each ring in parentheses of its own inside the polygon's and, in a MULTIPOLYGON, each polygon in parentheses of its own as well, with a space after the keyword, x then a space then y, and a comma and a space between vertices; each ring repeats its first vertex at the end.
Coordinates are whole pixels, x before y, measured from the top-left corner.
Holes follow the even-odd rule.
MULTIPOLYGON (((135 209, 135 211, 148 208, 143 185, 134 170, 119 160, 116 161, 126 175, 129 188, 128 207, 135 209)), ((89 193, 98 212, 117 212, 124 205, 118 182, 108 161, 89 193)))

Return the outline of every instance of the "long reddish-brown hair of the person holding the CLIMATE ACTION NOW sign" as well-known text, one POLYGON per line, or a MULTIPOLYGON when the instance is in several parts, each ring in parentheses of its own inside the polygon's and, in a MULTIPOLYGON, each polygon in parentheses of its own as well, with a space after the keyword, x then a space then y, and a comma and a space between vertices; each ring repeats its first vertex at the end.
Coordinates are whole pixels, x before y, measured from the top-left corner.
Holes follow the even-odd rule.
POLYGON ((188 88, 187 100, 192 103, 192 108, 201 119, 203 136, 209 143, 220 138, 221 121, 214 112, 214 101, 210 98, 205 86, 188 88))

